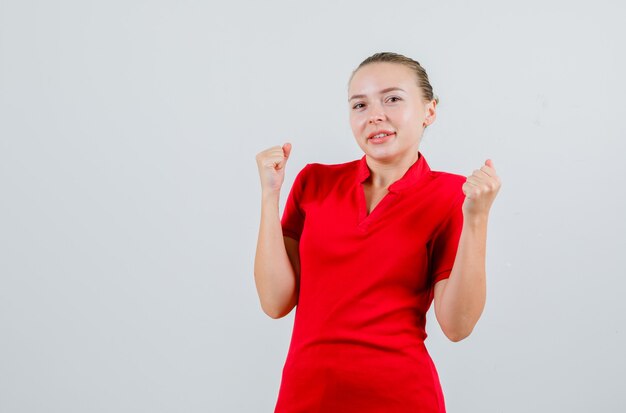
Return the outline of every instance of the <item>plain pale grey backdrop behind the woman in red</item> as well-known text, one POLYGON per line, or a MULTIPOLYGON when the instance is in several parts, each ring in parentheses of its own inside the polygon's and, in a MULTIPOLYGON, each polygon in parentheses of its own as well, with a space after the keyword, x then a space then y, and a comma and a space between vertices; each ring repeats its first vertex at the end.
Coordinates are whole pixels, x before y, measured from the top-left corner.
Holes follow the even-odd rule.
POLYGON ((625 411, 618 1, 0 0, 0 412, 271 412, 294 312, 259 305, 255 155, 362 156, 378 51, 440 97, 422 153, 503 186, 448 411, 625 411))

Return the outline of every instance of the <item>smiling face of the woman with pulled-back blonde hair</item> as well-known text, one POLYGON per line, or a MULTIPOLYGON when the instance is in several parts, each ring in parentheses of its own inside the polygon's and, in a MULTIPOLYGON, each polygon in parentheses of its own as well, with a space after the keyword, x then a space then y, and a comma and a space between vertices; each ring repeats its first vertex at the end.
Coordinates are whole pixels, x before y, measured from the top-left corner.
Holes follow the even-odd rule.
POLYGON ((435 101, 424 101, 416 75, 399 63, 360 68, 348 87, 348 99, 357 144, 366 155, 384 162, 416 156, 424 127, 436 116, 435 101))

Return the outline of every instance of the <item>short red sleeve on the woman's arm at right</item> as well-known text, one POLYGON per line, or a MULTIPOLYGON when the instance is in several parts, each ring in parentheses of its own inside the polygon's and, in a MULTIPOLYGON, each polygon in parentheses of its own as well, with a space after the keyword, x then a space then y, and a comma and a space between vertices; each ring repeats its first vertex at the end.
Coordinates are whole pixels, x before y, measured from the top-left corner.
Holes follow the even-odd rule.
POLYGON ((432 240, 432 265, 430 266, 432 285, 450 277, 463 229, 464 200, 464 194, 455 200, 455 205, 437 229, 432 240))

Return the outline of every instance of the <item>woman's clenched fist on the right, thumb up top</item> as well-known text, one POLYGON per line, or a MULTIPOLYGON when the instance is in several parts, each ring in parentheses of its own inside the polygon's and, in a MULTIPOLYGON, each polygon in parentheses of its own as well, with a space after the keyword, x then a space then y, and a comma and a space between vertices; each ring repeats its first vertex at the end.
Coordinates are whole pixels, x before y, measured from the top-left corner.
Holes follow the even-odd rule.
POLYGON ((500 178, 496 174, 491 159, 475 170, 463 184, 465 202, 463 202, 463 216, 487 217, 493 200, 500 190, 500 178))

